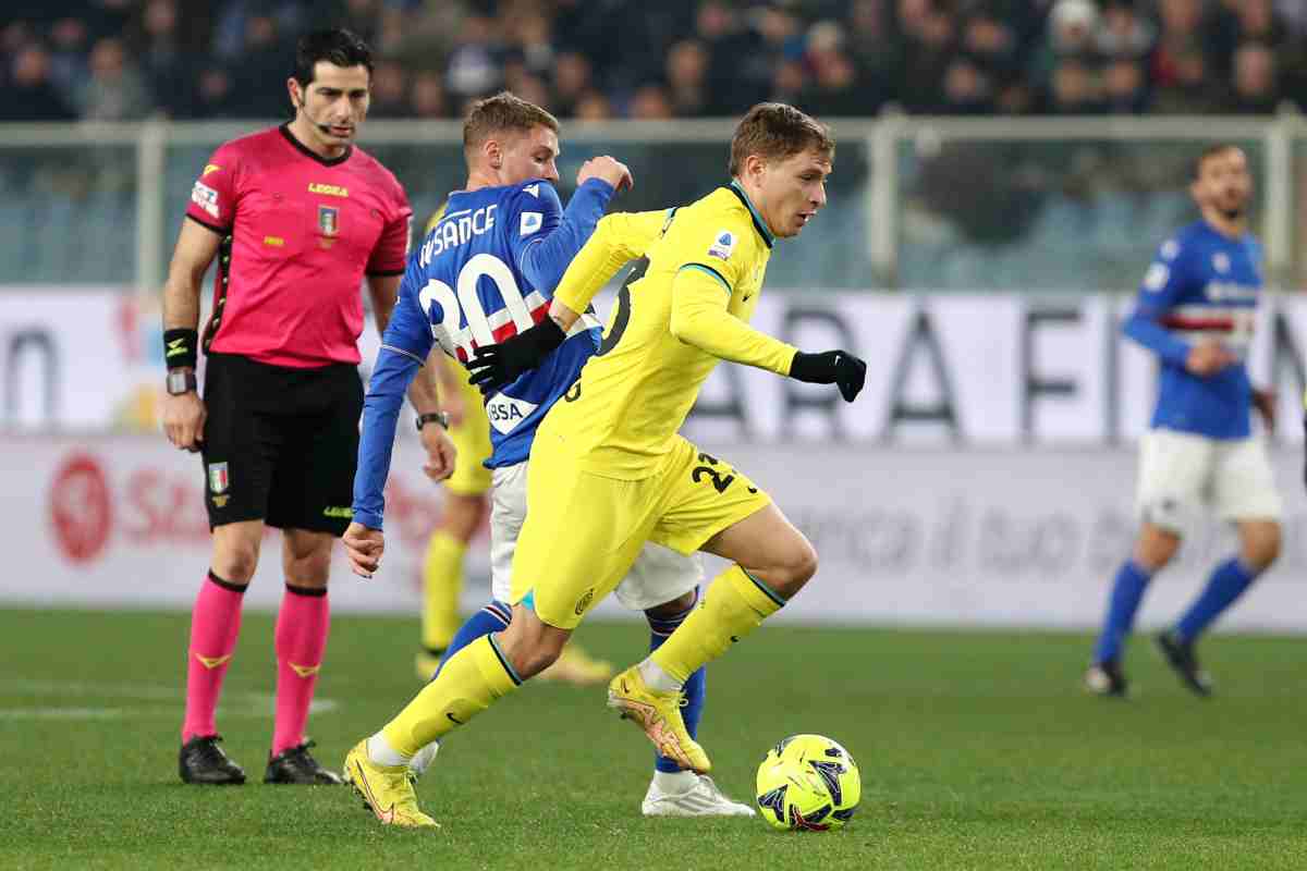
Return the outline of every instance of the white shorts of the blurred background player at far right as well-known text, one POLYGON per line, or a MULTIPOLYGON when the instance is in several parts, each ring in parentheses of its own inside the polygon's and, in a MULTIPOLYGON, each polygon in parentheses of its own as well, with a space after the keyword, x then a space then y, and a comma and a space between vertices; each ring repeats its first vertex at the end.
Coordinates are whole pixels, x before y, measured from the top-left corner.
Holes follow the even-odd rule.
POLYGON ((1265 443, 1149 430, 1140 440, 1140 518, 1180 534, 1202 507, 1221 520, 1280 520, 1265 443))

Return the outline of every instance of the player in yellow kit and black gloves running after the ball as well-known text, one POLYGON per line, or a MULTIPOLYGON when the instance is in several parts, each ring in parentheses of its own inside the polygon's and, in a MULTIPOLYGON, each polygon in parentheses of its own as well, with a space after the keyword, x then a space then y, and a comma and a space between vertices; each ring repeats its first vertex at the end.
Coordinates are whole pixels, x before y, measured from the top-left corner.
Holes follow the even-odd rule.
POLYGON ((383 774, 374 782, 384 789, 365 797, 378 817, 409 819, 417 799, 405 768, 384 777, 367 757, 412 759, 548 667, 646 541, 731 565, 657 650, 613 679, 608 704, 663 755, 698 773, 711 768, 681 720, 681 686, 797 593, 817 554, 762 490, 677 430, 721 359, 838 384, 850 402, 861 389, 867 364, 848 351, 804 354, 748 325, 776 236, 799 235, 825 204, 833 158, 825 125, 791 106, 755 106, 732 138, 729 185, 684 208, 600 221, 549 317, 473 358, 481 370, 473 381, 516 377, 562 342, 625 262, 648 259, 644 278, 620 296, 599 353, 537 432, 512 623, 451 657, 365 742, 366 753, 350 753, 383 774))

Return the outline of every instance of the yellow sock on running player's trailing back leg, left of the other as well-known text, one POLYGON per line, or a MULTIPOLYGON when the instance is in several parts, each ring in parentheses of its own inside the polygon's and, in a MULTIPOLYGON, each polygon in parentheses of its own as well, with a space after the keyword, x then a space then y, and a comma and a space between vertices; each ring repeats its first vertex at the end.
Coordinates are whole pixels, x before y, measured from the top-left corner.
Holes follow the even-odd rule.
POLYGON ((399 753, 412 757, 520 684, 493 636, 484 635, 450 657, 440 675, 386 725, 382 735, 399 753))

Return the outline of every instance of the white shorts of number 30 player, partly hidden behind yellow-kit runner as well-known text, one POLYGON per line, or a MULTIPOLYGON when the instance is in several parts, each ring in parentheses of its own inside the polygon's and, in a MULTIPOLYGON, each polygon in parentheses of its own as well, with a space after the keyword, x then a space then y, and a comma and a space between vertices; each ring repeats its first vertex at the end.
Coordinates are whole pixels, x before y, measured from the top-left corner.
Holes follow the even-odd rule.
MULTIPOLYGON (((490 491, 490 592, 507 602, 512 590, 512 554, 527 520, 527 464, 494 470, 490 491)), ((698 555, 682 556, 669 547, 646 542, 635 564, 614 590, 617 601, 633 611, 670 602, 703 582, 698 555)))

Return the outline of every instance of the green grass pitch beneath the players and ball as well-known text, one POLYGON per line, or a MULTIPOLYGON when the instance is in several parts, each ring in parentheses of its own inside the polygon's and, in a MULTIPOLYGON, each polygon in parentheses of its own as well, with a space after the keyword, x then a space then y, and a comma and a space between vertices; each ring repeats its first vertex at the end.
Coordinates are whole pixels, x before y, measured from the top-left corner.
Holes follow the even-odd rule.
MULTIPOLYGON (((0 611, 0 868, 1307 868, 1303 641, 1217 636, 1219 696, 1137 639, 1127 703, 1078 688, 1080 635, 763 628, 708 671, 714 776, 753 795, 788 734, 863 772, 843 832, 646 820, 651 752, 604 691, 532 686, 452 736, 420 785, 443 828, 387 831, 346 789, 263 786, 272 620, 247 614, 218 726, 242 787, 176 778, 188 618, 0 611)), ((337 618, 319 759, 418 688, 416 620, 337 618)), ((582 628, 629 662, 643 624, 582 628)))

